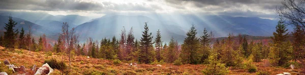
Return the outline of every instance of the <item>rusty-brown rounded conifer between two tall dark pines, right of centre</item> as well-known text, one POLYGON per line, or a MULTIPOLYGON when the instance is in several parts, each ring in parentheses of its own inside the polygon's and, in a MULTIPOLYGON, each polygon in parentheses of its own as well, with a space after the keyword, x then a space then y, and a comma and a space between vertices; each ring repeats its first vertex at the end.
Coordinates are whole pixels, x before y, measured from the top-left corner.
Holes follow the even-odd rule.
POLYGON ((178 45, 178 43, 174 40, 174 38, 172 37, 170 39, 170 42, 169 42, 169 46, 167 48, 167 45, 165 44, 164 45, 164 48, 166 49, 166 53, 165 53, 165 61, 168 62, 168 63, 173 63, 176 59, 178 59, 178 51, 176 46, 178 45))

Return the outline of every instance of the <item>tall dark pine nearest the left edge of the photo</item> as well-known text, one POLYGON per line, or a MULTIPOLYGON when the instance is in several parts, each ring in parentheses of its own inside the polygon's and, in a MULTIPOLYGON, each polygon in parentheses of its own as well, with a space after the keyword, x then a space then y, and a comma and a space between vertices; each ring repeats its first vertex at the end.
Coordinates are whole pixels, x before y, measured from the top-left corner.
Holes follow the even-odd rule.
MULTIPOLYGON (((16 42, 16 36, 18 29, 14 31, 14 27, 17 23, 12 19, 12 16, 9 16, 8 23, 5 23, 5 32, 4 32, 4 46, 8 49, 14 48, 14 43, 16 42)), ((15 50, 15 48, 13 49, 15 50)))

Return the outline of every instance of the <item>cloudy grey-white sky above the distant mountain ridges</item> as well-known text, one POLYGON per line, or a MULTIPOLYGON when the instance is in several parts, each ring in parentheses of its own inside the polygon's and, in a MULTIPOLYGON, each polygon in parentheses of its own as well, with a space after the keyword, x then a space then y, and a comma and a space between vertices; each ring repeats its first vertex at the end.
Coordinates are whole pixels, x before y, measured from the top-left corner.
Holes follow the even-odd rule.
POLYGON ((108 14, 199 14, 275 19, 284 0, 0 0, 0 11, 102 17, 108 14))

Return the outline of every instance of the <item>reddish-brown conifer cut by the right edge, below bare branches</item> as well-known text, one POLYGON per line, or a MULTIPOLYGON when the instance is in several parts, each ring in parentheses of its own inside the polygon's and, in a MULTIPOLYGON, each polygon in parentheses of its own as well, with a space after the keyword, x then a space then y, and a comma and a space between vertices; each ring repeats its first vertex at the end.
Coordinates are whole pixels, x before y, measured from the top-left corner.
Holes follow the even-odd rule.
POLYGON ((294 61, 300 60, 304 58, 303 53, 305 52, 305 34, 303 33, 303 30, 300 26, 296 26, 294 28, 293 34, 293 59, 294 61))

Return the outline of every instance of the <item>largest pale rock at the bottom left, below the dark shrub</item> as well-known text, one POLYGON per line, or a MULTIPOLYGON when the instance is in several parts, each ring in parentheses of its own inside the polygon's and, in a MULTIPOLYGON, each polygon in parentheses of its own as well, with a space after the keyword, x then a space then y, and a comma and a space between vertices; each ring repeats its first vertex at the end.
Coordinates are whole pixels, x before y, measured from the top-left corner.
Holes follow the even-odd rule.
POLYGON ((48 63, 45 63, 40 68, 37 69, 35 75, 37 75, 37 74, 47 74, 47 75, 49 75, 51 72, 53 72, 53 69, 49 66, 48 63))

